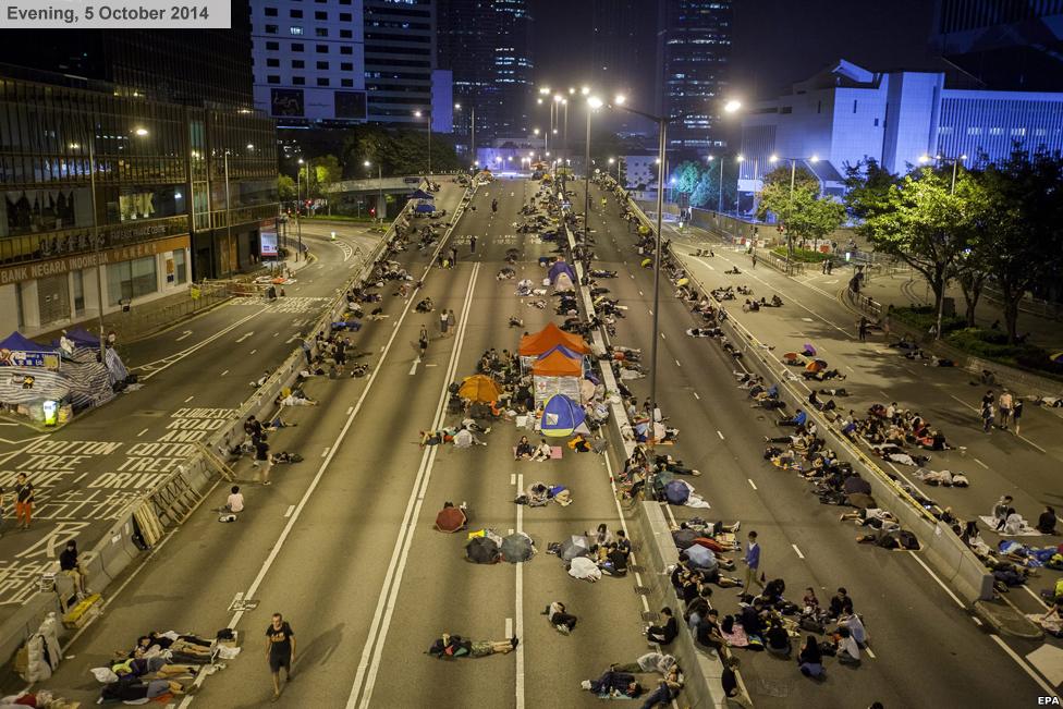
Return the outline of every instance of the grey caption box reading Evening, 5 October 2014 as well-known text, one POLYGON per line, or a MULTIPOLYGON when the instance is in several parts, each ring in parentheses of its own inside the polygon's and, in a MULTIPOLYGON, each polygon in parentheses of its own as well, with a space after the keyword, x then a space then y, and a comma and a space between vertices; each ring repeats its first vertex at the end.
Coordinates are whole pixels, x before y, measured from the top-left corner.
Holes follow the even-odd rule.
POLYGON ((0 0, 4 29, 229 29, 230 0, 0 0))

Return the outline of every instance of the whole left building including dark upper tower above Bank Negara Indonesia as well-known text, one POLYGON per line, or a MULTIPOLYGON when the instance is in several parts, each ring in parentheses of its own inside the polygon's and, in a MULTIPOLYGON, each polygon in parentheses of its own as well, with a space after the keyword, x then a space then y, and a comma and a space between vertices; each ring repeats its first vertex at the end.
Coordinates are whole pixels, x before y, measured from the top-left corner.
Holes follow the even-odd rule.
POLYGON ((246 14, 233 17, 232 30, 2 37, 8 326, 42 332, 258 264, 276 233, 277 137, 252 108, 246 14))

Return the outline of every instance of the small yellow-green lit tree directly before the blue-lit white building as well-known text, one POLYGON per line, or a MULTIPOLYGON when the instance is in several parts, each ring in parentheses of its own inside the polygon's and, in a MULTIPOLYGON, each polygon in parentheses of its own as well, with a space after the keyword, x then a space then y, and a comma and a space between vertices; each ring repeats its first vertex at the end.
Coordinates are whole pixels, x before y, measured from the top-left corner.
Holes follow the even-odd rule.
MULTIPOLYGON (((782 169, 780 169, 782 170, 782 169)), ((757 217, 763 219, 768 212, 778 217, 786 231, 786 244, 792 254, 794 240, 819 240, 829 236, 845 221, 845 206, 832 197, 819 196, 819 181, 810 173, 799 182, 795 173, 794 187, 790 187, 790 169, 785 169, 785 181, 778 178, 769 180, 780 170, 774 170, 765 178, 765 187, 760 191, 760 201, 757 205, 757 217)))

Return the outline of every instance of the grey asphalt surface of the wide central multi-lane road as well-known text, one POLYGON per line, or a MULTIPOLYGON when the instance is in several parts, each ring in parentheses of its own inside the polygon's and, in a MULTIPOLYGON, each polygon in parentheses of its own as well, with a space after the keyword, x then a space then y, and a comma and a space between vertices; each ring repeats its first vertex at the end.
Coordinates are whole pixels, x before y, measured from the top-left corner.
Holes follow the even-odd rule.
MULTIPOLYGON (((305 462, 274 468, 270 488, 245 486, 247 511, 236 524, 219 524, 207 509, 223 502, 216 491, 112 596, 105 618, 68 649, 74 658, 60 669, 53 686, 91 700, 87 668, 143 632, 175 628, 212 635, 229 624, 243 635, 243 653, 206 677, 195 698, 182 705, 258 706, 271 694, 261 635, 270 613, 280 611, 298 637, 296 679, 285 688, 282 706, 597 706, 579 689, 579 681, 645 651, 639 597, 632 578, 586 584, 567 577, 545 549, 566 534, 599 523, 611 528, 620 524, 609 486, 620 447, 606 456, 565 450, 561 461, 514 463, 511 447, 521 431, 512 424, 497 425, 484 436, 488 445, 482 448, 417 445, 420 430, 453 423, 443 409, 450 382, 473 374, 485 350, 516 347, 522 329, 508 327, 511 315, 524 318, 528 331, 560 321, 552 308, 539 310, 517 298, 515 281, 496 279, 509 248, 521 254, 518 279, 543 276, 537 258, 552 244, 515 230, 520 207, 537 190, 538 183, 523 180, 481 187, 473 201, 477 209, 466 211, 453 230, 451 243, 460 254, 453 269, 426 270, 430 254, 402 255, 417 278, 426 273, 424 286, 407 300, 383 289, 381 306, 388 317, 367 323, 354 337, 371 375, 311 380, 307 392, 320 405, 288 413, 300 426, 270 441, 274 450, 301 452, 305 462), (498 213, 490 209, 496 198, 498 213), (476 250, 471 253, 474 235, 476 250), (425 295, 457 316, 457 328, 445 339, 438 337, 435 314, 414 311, 415 301, 425 295), (433 333, 423 360, 415 346, 421 326, 433 333), (514 505, 517 491, 535 480, 570 486, 573 504, 514 505), (468 502, 474 528, 528 533, 540 553, 517 566, 465 562, 463 538, 431 528, 447 500, 468 502), (230 610, 237 598, 252 602, 244 611, 230 610), (564 601, 579 616, 569 637, 539 614, 553 600, 564 601), (504 657, 444 662, 425 655, 442 632, 476 639, 516 635, 521 644, 504 657)), ((693 481, 711 509, 698 512, 713 519, 741 519, 743 535, 756 529, 763 566, 770 577, 786 580, 787 596, 799 598, 812 586, 826 601, 838 586, 845 586, 868 625, 871 652, 863 667, 848 670, 831 662, 823 684, 802 677, 792 662, 743 655, 754 702, 1005 706, 1033 704, 1049 694, 1052 687, 1022 659, 1033 648, 1017 647, 980 626, 918 554, 856 545, 855 528, 838 522, 836 508, 818 504, 805 482, 762 461, 762 436, 771 423, 735 389, 733 360, 714 341, 684 334, 691 314, 668 290, 661 300, 661 329, 651 331, 651 272, 638 268, 615 199, 609 197, 599 208, 601 195, 592 191, 597 265, 619 271, 619 278, 600 284, 628 307, 613 341, 648 353, 652 338, 660 338, 658 399, 681 429, 670 452, 704 472, 693 481)), ((574 204, 582 204, 579 197, 582 193, 574 204)), ((341 268, 326 266, 321 278, 341 268)), ((293 295, 290 291, 289 297, 293 295)), ((232 306, 222 310, 230 317, 235 313, 232 306)), ((167 389, 174 390, 175 401, 151 408, 171 417, 190 395, 196 399, 187 405, 206 406, 197 402, 204 396, 211 407, 234 406, 229 400, 215 403, 209 392, 225 367, 235 372, 242 363, 247 369, 242 380, 257 370, 255 355, 240 347, 253 349, 258 334, 234 342, 244 328, 258 329, 242 325, 227 333, 217 359, 200 360, 184 378, 174 378, 167 389)), ((273 331, 267 335, 272 338, 273 331)), ((179 362, 167 372, 178 374, 182 366, 179 362)), ((648 393, 645 380, 628 386, 640 399, 648 393)), ((134 428, 129 426, 136 438, 139 428, 134 428)), ((615 437, 615 428, 610 433, 615 437)), ((239 472, 249 476, 246 467, 239 472)), ((682 519, 693 511, 671 512, 682 519)), ((723 613, 734 612, 736 594, 719 589, 713 603, 723 613)))

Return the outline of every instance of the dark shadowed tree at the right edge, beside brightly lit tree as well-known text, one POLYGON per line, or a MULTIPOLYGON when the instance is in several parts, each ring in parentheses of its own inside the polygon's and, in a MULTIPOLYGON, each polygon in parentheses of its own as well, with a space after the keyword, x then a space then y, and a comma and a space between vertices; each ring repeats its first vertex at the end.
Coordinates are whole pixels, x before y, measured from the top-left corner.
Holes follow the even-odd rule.
POLYGON ((976 181, 976 210, 988 231, 981 259, 1002 295, 1007 341, 1015 343, 1023 297, 1053 278, 1060 266, 1063 160, 1016 149, 1006 162, 987 167, 976 181))

